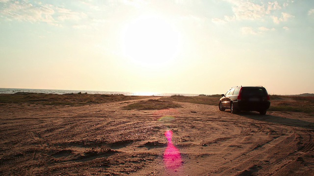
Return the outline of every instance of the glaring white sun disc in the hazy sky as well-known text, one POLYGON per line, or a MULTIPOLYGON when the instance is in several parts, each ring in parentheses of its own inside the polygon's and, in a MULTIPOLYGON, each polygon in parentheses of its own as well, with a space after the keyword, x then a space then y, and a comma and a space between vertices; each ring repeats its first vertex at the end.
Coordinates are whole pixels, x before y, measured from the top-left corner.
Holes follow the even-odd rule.
POLYGON ((124 55, 140 65, 165 65, 178 53, 179 33, 158 16, 138 17, 126 26, 122 36, 124 55))

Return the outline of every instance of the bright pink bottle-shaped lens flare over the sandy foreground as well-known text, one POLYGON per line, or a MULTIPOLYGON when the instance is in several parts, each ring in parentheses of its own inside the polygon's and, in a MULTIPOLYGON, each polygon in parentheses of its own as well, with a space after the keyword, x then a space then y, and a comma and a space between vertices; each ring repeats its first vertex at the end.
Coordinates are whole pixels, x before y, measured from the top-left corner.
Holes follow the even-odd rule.
POLYGON ((172 143, 172 131, 165 132, 165 137, 168 139, 167 148, 163 154, 163 162, 166 168, 178 169, 182 165, 181 153, 172 143))

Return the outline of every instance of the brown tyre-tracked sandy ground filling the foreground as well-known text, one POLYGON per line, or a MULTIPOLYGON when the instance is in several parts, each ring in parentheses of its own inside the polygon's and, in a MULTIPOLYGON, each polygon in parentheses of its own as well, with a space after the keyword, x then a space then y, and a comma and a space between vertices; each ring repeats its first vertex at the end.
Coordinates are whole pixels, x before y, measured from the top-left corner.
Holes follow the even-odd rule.
POLYGON ((0 103, 0 175, 314 175, 311 114, 123 109, 137 101, 0 103))

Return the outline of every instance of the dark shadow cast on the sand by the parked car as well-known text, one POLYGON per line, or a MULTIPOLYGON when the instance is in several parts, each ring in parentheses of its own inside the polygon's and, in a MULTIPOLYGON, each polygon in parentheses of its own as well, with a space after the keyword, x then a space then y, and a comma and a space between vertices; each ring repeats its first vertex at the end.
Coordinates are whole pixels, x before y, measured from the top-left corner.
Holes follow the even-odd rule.
POLYGON ((269 115, 269 114, 260 115, 259 112, 255 112, 255 111, 249 111, 249 112, 240 111, 237 113, 237 115, 254 119, 254 120, 269 122, 269 123, 276 123, 276 124, 281 124, 281 125, 288 125, 292 127, 300 127, 300 128, 314 130, 314 123, 304 121, 304 120, 299 120, 299 119, 292 119, 288 117, 280 117, 280 116, 269 115))

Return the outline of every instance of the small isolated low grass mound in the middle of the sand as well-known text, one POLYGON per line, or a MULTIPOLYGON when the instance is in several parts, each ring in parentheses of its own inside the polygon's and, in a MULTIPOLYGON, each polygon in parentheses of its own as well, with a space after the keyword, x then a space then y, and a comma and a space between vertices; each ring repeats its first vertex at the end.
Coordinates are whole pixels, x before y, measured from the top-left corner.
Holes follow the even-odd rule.
POLYGON ((125 110, 163 110, 170 108, 181 108, 179 104, 171 101, 147 100, 139 101, 123 107, 125 110))

